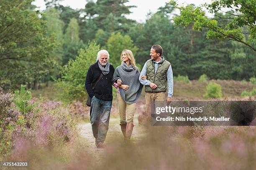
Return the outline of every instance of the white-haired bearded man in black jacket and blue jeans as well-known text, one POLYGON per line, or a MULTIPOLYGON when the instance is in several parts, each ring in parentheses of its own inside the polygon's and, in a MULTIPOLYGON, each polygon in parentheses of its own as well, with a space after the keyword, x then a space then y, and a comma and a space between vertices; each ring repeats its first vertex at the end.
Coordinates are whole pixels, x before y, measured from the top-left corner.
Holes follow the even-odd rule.
POLYGON ((92 98, 90 121, 97 148, 104 148, 113 100, 111 80, 115 69, 108 59, 108 51, 100 50, 96 63, 89 67, 85 79, 85 88, 92 98))

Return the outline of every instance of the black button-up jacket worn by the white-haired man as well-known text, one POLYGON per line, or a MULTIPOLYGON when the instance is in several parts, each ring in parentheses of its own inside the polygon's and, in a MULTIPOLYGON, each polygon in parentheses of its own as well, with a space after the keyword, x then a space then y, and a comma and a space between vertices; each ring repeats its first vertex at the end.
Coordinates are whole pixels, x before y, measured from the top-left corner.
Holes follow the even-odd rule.
POLYGON ((98 77, 100 77, 102 71, 98 65, 98 62, 91 65, 88 69, 86 78, 85 78, 85 88, 90 97, 97 97, 102 100, 113 100, 112 94, 112 82, 111 79, 114 74, 114 67, 110 65, 109 73, 107 75, 103 75, 102 78, 97 82, 94 89, 92 89, 93 84, 96 82, 98 77))

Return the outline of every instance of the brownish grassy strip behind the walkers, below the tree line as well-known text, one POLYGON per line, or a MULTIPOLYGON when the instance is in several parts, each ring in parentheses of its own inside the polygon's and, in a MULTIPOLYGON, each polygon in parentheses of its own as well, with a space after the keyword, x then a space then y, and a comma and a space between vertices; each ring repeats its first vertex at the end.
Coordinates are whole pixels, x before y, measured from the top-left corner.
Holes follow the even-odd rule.
MULTIPOLYGON (((237 98, 241 97, 241 92, 251 91, 253 84, 251 82, 236 81, 236 80, 208 80, 200 82, 191 80, 192 84, 187 84, 182 81, 174 80, 174 100, 204 100, 205 87, 209 82, 215 82, 221 85, 223 97, 237 98)), ((145 91, 142 90, 141 97, 145 97, 145 91)), ((49 100, 57 100, 59 98, 58 91, 54 89, 54 82, 49 83, 49 87, 44 87, 40 90, 31 90, 33 97, 43 97, 49 100)), ((167 92, 166 92, 167 95, 167 92)), ((115 105, 116 95, 113 95, 113 105, 115 105)))

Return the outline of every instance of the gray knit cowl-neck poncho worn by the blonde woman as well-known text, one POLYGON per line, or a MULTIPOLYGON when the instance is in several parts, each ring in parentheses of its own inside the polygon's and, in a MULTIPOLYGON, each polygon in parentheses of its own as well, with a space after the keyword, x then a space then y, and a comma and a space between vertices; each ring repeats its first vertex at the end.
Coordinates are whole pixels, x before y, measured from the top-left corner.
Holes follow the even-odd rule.
POLYGON ((128 90, 119 88, 122 99, 128 104, 135 103, 141 96, 143 85, 139 81, 139 76, 140 71, 138 68, 132 65, 128 67, 125 62, 115 69, 112 82, 116 82, 116 80, 120 79, 123 85, 129 86, 128 90))

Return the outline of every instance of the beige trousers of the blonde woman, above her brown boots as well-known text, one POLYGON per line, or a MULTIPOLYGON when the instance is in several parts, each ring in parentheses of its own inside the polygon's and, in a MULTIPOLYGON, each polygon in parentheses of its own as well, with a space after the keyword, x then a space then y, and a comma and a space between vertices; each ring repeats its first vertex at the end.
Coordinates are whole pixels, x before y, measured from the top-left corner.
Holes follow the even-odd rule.
POLYGON ((126 122, 133 123, 136 103, 133 103, 133 104, 126 103, 122 99, 120 93, 117 94, 117 103, 118 103, 118 110, 120 115, 120 124, 124 124, 126 122))

